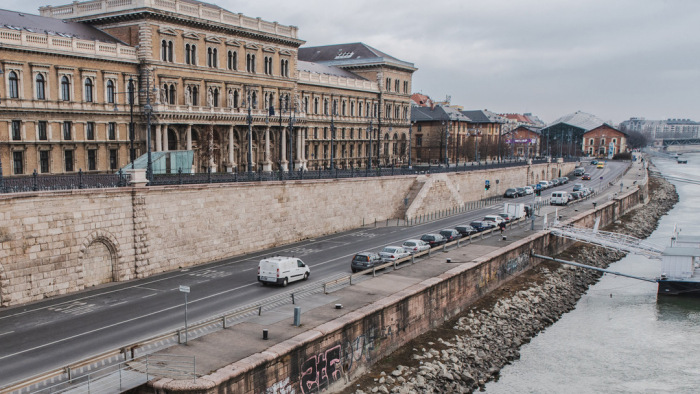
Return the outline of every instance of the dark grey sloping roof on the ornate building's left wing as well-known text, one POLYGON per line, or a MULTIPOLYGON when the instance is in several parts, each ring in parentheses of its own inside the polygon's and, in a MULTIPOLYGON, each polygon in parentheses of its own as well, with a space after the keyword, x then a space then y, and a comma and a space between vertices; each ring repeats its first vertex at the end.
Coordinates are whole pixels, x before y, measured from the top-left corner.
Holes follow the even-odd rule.
POLYGON ((0 9, 0 27, 30 33, 75 37, 109 43, 122 43, 109 34, 84 23, 0 9))

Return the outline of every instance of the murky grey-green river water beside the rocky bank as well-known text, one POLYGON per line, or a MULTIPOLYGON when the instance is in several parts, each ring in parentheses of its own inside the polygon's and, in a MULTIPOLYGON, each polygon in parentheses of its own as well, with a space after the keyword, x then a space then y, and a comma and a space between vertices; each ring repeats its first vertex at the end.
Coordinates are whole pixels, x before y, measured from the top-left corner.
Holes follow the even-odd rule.
MULTIPOLYGON (((654 159, 664 174, 700 179, 687 165, 654 159)), ((700 235, 700 185, 674 182, 680 201, 648 238, 668 246, 674 225, 700 235)), ((658 277, 660 261, 628 255, 614 271, 658 277)), ((656 295, 655 283, 605 275, 546 331, 521 348, 487 393, 700 393, 700 298, 656 295)))

